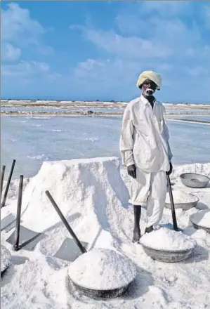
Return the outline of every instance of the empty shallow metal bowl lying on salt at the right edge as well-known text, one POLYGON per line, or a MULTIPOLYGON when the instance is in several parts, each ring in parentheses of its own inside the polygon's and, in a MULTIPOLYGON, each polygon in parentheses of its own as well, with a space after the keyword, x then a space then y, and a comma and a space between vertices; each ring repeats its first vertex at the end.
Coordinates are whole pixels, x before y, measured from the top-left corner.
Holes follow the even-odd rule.
POLYGON ((183 173, 180 175, 183 185, 189 188, 205 188, 210 178, 197 173, 183 173))

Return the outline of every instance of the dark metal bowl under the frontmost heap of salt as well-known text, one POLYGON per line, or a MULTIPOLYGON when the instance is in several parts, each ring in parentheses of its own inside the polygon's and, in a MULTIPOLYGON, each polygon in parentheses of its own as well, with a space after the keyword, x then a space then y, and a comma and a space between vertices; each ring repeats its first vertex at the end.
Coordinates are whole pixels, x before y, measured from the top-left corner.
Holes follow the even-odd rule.
MULTIPOLYGON (((133 281, 133 280, 132 280, 133 281)), ((129 284, 126 284, 124 287, 119 287, 117 289, 109 289, 109 290, 96 290, 96 289, 88 289, 86 287, 81 287, 79 284, 76 284, 71 280, 74 287, 81 292, 81 294, 84 294, 85 296, 88 296, 93 299, 107 299, 107 298, 116 298, 118 296, 121 296, 124 294, 126 289, 128 289, 129 284)))

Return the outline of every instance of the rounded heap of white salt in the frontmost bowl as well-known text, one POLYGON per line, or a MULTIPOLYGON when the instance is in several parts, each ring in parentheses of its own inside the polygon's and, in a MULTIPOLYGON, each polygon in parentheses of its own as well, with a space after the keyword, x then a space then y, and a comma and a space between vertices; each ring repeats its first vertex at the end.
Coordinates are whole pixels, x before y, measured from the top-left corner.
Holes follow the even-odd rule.
POLYGON ((136 268, 126 256, 110 249, 93 249, 82 254, 68 270, 75 284, 94 290, 125 287, 136 277, 136 268))

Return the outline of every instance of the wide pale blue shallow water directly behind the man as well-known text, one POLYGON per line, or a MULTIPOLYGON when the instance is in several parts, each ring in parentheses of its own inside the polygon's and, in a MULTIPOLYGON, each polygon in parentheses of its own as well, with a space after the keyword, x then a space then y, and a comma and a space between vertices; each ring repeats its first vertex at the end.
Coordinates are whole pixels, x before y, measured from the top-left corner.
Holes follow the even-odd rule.
MULTIPOLYGON (((13 177, 34 176, 43 161, 119 157, 122 117, 1 117, 1 165, 13 177)), ((174 164, 209 162, 210 129, 205 124, 169 121, 174 164)))

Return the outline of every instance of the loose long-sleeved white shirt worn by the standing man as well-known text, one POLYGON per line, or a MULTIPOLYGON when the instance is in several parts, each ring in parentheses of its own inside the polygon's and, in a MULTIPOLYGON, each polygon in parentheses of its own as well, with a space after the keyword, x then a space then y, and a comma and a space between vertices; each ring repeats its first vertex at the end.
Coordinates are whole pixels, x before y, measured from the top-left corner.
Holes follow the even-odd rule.
POLYGON ((132 100, 124 110, 119 141, 122 164, 136 164, 147 172, 169 171, 172 158, 165 107, 144 97, 132 100))

